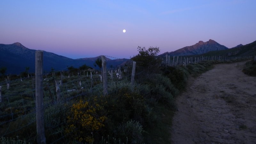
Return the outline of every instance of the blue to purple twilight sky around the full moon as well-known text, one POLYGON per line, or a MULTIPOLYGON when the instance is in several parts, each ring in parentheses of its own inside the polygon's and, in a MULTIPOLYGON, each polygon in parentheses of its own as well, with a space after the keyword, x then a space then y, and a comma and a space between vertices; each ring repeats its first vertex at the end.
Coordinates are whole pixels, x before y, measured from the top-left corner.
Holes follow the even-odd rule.
POLYGON ((255 6, 256 0, 1 0, 0 44, 72 59, 129 59, 138 46, 161 54, 209 39, 231 48, 256 40, 255 6))

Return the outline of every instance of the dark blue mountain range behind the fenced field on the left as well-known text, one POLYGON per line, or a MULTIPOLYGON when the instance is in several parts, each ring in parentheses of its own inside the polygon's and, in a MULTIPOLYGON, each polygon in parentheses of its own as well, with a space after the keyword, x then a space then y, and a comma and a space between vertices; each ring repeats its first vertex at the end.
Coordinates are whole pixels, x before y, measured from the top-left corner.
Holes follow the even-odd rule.
MULTIPOLYGON (((20 74, 29 67, 29 73, 35 72, 35 53, 36 50, 28 49, 20 43, 0 44, 0 68, 6 67, 6 74, 20 74)), ((50 72, 52 68, 55 71, 67 70, 68 66, 78 68, 84 64, 94 67, 96 58, 70 59, 52 52, 43 53, 43 71, 50 72)), ((110 60, 107 59, 107 68, 111 65, 116 67, 128 59, 110 60)))

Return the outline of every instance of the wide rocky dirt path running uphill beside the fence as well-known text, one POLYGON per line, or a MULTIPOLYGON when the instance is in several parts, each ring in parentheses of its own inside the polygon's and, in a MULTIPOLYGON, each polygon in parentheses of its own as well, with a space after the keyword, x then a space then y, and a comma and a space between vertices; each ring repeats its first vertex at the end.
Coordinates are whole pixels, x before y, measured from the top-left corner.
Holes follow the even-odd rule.
POLYGON ((174 144, 256 144, 256 77, 245 62, 218 64, 196 79, 176 100, 174 144))

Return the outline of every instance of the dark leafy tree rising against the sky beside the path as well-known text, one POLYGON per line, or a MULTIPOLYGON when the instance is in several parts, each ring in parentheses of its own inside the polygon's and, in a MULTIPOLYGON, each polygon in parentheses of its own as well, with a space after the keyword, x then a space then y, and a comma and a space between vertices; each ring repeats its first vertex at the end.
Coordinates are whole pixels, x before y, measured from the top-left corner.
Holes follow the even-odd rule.
POLYGON ((137 62, 137 66, 145 67, 149 70, 154 70, 161 65, 161 59, 157 58, 157 54, 160 52, 159 47, 145 47, 138 46, 139 54, 131 58, 137 62))

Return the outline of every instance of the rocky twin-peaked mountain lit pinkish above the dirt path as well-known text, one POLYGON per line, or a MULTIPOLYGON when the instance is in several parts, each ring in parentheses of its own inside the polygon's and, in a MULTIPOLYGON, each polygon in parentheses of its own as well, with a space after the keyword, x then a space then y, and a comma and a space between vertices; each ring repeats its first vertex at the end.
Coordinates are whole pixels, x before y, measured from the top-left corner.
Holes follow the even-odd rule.
POLYGON ((199 41, 198 43, 186 46, 178 49, 174 52, 165 52, 162 55, 168 54, 170 56, 187 56, 187 55, 198 55, 210 51, 219 51, 228 49, 226 46, 221 45, 214 40, 209 40, 207 42, 199 41))

